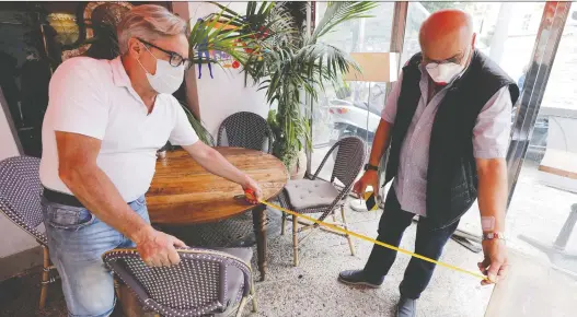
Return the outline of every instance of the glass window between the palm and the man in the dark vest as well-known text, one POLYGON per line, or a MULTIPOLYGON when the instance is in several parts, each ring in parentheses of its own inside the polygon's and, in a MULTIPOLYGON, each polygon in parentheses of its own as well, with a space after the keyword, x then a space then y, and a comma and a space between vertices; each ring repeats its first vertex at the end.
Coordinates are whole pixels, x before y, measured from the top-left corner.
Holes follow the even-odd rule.
MULTIPOLYGON (((326 2, 316 2, 316 22, 323 17, 326 5, 326 2)), ((372 17, 347 21, 325 35, 322 42, 346 52, 389 51, 393 12, 393 2, 379 2, 379 5, 369 12, 372 17)), ((370 148, 385 99, 385 83, 347 82, 341 86, 325 89, 313 107, 312 173, 341 138, 357 136, 370 148)), ((327 161, 321 174, 325 179, 331 176, 333 157, 327 161)))

